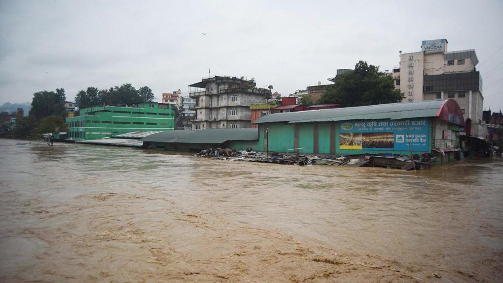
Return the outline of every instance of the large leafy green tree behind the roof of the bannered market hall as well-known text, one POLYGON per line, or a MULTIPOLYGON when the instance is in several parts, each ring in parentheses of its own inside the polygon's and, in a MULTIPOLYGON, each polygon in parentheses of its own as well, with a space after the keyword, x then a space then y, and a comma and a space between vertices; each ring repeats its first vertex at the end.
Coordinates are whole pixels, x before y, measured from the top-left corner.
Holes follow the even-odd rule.
POLYGON ((404 98, 395 89, 393 79, 379 72, 379 66, 359 61, 354 70, 337 77, 337 83, 323 90, 317 103, 339 103, 342 107, 400 102, 404 98))

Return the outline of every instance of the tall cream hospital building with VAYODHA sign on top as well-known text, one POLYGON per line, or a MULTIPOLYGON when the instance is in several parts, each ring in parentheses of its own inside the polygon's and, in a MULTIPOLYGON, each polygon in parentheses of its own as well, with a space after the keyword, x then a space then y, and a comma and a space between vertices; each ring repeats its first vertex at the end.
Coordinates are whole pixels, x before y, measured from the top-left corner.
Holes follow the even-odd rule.
POLYGON ((466 120, 465 132, 482 133, 482 78, 475 50, 447 51, 447 39, 424 40, 421 51, 401 53, 392 77, 404 102, 455 99, 466 120))

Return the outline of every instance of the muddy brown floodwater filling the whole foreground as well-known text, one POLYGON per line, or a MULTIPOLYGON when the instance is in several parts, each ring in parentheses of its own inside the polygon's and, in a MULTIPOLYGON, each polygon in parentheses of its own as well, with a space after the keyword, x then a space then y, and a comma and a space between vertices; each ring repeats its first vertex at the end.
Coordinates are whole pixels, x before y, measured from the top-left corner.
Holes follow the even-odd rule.
POLYGON ((414 173, 18 142, 0 139, 1 282, 502 280, 500 158, 414 173))

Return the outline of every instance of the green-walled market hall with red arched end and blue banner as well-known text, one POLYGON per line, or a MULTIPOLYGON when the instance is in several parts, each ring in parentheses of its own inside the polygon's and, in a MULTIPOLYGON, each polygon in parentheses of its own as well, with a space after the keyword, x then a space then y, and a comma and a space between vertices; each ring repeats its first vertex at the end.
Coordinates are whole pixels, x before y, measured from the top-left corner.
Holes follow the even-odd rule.
POLYGON ((276 113, 254 123, 257 151, 409 155, 458 150, 464 119, 449 99, 276 113))

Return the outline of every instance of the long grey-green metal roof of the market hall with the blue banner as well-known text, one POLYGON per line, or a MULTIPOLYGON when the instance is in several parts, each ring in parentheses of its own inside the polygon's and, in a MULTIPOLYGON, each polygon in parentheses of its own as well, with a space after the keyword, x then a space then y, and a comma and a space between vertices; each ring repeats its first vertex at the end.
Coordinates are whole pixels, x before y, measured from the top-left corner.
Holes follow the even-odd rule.
POLYGON ((358 107, 275 113, 263 116, 253 123, 306 123, 360 119, 398 120, 406 118, 436 117, 441 105, 442 100, 426 100, 418 102, 401 102, 358 107))

